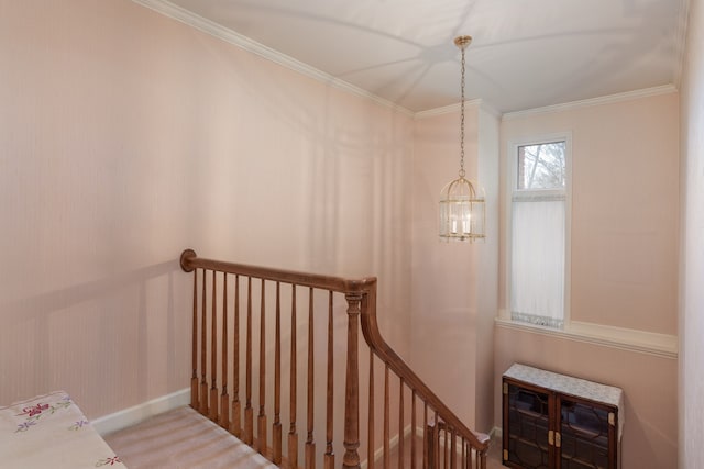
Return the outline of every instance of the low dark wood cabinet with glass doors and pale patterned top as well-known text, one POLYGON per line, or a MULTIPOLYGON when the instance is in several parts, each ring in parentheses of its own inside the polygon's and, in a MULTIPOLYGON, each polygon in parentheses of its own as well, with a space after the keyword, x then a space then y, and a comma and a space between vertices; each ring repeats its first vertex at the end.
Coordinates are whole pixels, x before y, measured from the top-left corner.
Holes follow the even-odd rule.
POLYGON ((503 462, 521 469, 617 469, 619 388, 525 365, 503 376, 503 462))

